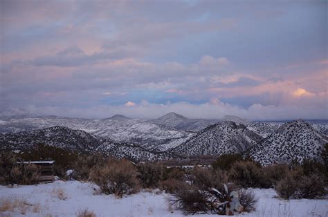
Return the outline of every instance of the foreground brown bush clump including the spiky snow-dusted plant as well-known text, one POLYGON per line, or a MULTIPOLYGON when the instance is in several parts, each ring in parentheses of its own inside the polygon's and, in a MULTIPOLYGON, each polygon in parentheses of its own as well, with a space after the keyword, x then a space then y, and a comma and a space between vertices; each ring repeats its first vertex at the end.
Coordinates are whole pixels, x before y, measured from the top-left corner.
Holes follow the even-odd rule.
POLYGON ((229 183, 229 187, 224 184, 228 181, 226 171, 194 167, 189 178, 188 182, 170 183, 174 196, 169 200, 170 207, 176 205, 183 210, 183 214, 233 214, 234 210, 243 210, 239 194, 233 191, 233 183, 229 183))

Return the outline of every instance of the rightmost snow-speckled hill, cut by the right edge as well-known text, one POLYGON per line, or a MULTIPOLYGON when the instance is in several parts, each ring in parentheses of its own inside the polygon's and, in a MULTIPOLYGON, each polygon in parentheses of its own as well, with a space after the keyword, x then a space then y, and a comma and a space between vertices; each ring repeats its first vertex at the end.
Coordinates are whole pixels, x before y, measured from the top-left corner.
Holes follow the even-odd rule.
POLYGON ((302 161, 304 158, 320 160, 320 153, 328 142, 304 120, 282 124, 274 133, 247 151, 247 155, 263 165, 275 162, 302 161))

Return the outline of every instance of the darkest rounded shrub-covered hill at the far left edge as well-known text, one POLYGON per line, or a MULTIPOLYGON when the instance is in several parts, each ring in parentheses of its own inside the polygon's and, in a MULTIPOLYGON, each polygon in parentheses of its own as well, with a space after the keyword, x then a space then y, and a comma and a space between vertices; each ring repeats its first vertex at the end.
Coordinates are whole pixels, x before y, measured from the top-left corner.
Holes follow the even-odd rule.
POLYGON ((29 149, 35 144, 42 143, 74 151, 91 151, 101 142, 102 140, 94 135, 64 126, 0 135, 1 149, 29 149))

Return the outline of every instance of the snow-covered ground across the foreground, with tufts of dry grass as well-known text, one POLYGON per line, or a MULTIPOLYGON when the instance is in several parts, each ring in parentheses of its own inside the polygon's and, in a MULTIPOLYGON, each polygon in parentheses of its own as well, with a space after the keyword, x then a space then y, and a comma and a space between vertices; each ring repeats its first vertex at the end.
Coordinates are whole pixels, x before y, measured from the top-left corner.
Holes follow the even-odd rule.
MULTIPOLYGON (((0 186, 0 216, 76 216, 84 209, 97 216, 182 216, 181 211, 172 213, 168 209, 168 195, 158 191, 117 199, 97 194, 95 189, 90 183, 78 181, 0 186)), ((280 200, 273 189, 254 192, 259 198, 257 211, 244 216, 328 216, 328 200, 280 200)))

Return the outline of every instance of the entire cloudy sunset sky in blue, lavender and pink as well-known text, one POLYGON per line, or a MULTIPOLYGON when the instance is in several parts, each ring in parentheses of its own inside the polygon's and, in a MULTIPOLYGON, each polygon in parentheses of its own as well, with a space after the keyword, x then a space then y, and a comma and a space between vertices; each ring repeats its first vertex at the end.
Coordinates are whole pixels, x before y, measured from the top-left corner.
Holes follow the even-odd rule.
POLYGON ((0 0, 0 111, 328 119, 327 1, 0 0))

